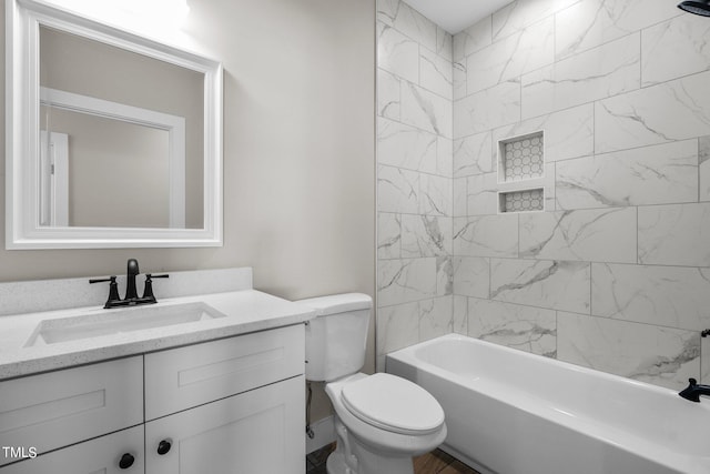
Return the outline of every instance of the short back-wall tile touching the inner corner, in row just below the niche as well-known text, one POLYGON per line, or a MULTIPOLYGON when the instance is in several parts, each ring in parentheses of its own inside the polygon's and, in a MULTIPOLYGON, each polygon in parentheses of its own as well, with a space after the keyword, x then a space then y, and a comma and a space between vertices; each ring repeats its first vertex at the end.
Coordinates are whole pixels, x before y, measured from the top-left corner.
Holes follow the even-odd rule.
POLYGON ((455 218, 454 255, 518 256, 518 216, 455 218))

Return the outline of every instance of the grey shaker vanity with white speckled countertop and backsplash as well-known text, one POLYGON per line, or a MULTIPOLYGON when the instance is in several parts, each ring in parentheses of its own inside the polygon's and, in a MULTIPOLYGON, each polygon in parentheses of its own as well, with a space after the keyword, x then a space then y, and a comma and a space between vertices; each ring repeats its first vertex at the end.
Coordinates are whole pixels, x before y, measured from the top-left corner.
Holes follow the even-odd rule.
POLYGON ((250 269, 171 274, 172 292, 205 274, 232 289, 0 316, 0 473, 303 473, 312 311, 250 269))

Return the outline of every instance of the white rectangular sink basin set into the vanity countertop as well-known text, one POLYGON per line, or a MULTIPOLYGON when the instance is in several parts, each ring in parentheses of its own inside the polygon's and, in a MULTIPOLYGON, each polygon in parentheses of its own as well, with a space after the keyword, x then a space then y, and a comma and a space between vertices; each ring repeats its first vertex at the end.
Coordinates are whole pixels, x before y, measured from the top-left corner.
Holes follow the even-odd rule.
POLYGON ((24 346, 78 341, 216 317, 224 317, 224 314, 200 302, 166 306, 138 306, 125 310, 110 310, 83 316, 58 317, 40 322, 24 346))

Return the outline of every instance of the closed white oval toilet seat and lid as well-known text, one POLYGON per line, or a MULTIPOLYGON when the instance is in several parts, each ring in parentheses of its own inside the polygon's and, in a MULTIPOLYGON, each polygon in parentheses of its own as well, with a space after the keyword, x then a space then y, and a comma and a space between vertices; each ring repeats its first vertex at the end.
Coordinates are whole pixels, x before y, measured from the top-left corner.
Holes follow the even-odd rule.
POLYGON ((444 410, 417 384, 376 373, 343 386, 343 405, 358 420, 393 433, 426 435, 442 428, 444 410))

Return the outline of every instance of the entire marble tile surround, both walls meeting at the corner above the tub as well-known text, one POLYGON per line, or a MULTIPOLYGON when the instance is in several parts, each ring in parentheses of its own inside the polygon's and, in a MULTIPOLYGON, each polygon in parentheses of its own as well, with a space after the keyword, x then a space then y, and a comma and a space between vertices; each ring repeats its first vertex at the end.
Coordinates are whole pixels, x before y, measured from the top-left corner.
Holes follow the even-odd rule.
POLYGON ((676 3, 517 0, 452 39, 379 0, 381 357, 454 331, 710 383, 710 20, 676 3), (538 131, 545 211, 500 213, 498 141, 538 131))

